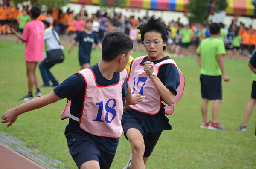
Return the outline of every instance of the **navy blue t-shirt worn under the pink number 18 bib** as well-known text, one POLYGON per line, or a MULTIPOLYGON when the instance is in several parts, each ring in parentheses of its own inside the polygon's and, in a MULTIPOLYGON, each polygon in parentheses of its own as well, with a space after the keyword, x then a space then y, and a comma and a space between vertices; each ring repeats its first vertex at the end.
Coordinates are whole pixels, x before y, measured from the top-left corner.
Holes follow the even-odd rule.
MULTIPOLYGON (((90 66, 90 69, 93 70, 93 73, 95 74, 95 77, 96 77, 96 82, 99 86, 113 85, 118 83, 119 81, 119 73, 115 73, 111 80, 108 80, 105 77, 103 77, 99 71, 98 63, 96 63, 93 66, 90 66)), ((127 88, 128 88, 128 82, 127 80, 125 80, 125 83, 122 89, 122 97, 127 96, 127 92, 126 92, 127 88)), ((67 98, 68 100, 72 100, 70 113, 75 117, 78 117, 78 118, 81 117, 81 112, 82 112, 83 103, 84 103, 84 92, 85 92, 85 80, 81 76, 81 74, 75 73, 71 75, 66 80, 64 80, 61 84, 55 87, 53 91, 58 97, 62 99, 67 98)), ((97 114, 97 112, 95 114, 97 114)), ((90 137, 92 140, 94 140, 94 142, 97 143, 98 146, 102 147, 102 149, 113 150, 118 145, 118 140, 119 140, 119 139, 113 139, 108 137, 99 137, 99 136, 91 135, 90 133, 85 132, 79 127, 79 122, 71 118, 69 118, 69 124, 66 126, 65 136, 67 137, 67 135, 69 135, 70 133, 87 135, 87 137, 90 137)))

